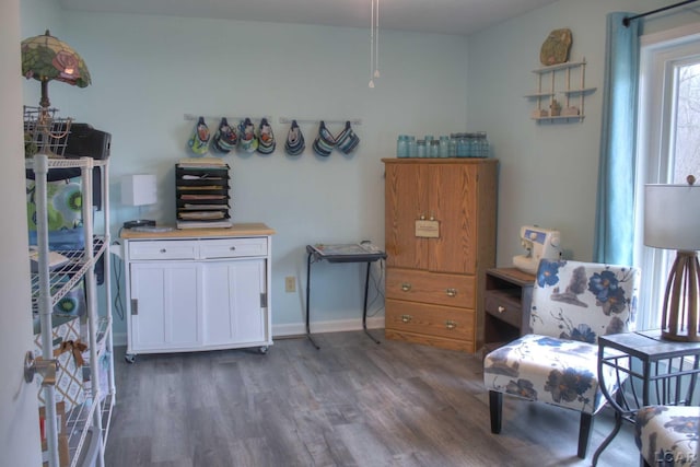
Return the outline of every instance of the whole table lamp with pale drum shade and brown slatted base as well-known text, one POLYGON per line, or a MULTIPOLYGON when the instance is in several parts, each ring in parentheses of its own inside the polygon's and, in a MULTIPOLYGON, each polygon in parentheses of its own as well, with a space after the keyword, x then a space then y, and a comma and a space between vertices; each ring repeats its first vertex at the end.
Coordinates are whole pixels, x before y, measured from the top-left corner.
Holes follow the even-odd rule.
POLYGON ((700 186, 644 186, 644 244, 676 249, 662 315, 662 338, 700 342, 700 186))

